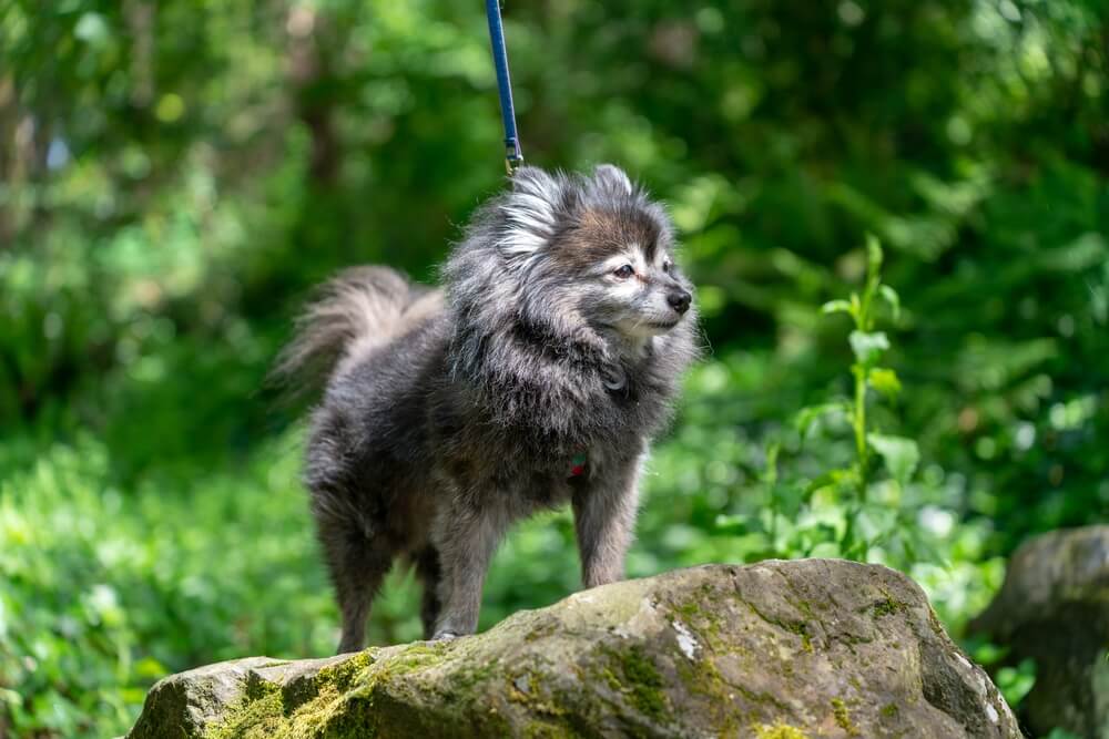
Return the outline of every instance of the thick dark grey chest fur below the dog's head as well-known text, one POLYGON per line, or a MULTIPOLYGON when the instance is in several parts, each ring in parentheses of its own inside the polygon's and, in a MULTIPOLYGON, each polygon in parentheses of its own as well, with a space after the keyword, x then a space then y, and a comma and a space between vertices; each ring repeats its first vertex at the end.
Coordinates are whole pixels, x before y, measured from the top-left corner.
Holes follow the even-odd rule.
POLYGON ((428 431, 440 472, 472 494, 528 507, 566 502, 638 458, 664 421, 674 392, 659 366, 665 343, 603 362, 519 331, 490 337, 476 361, 445 371, 431 394, 428 431))

